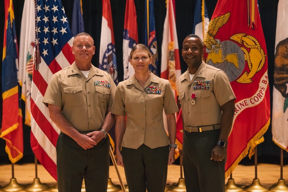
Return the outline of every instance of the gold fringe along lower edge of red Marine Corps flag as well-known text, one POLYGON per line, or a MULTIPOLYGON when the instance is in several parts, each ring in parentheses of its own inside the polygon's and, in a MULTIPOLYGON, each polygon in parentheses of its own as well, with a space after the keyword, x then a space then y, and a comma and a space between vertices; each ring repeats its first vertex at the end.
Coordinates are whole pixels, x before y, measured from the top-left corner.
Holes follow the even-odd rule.
POLYGON ((259 138, 267 131, 270 125, 270 117, 266 125, 247 143, 246 149, 241 153, 241 155, 236 159, 236 161, 230 166, 230 168, 225 172, 225 179, 234 171, 239 162, 248 154, 249 148, 257 141, 259 138))

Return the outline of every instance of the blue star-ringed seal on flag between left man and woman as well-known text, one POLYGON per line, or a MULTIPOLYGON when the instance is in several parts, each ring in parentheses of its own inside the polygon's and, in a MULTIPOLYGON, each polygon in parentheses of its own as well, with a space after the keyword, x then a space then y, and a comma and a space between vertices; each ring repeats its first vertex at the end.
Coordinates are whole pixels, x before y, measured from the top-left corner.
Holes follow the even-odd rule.
POLYGON ((113 65, 113 63, 116 63, 116 55, 115 55, 115 47, 112 43, 109 43, 107 45, 107 49, 105 51, 105 54, 103 55, 102 63, 103 63, 103 69, 111 75, 113 81, 115 82, 118 74, 117 74, 117 66, 113 65))

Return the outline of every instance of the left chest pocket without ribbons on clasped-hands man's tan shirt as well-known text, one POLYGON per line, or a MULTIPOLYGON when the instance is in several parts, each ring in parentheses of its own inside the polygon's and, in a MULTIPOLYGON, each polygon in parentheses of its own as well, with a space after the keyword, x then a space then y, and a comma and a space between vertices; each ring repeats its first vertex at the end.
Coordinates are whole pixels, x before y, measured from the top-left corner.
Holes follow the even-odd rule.
POLYGON ((69 85, 63 87, 65 105, 68 107, 80 107, 82 105, 82 86, 69 85))

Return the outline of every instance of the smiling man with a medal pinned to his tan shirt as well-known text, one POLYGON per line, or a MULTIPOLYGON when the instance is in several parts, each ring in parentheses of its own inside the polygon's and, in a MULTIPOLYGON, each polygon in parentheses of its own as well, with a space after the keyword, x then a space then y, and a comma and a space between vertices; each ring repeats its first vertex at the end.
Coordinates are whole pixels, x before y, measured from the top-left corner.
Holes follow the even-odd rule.
POLYGON ((203 54, 203 41, 188 35, 182 49, 188 70, 178 81, 185 184, 187 192, 224 192, 235 96, 226 73, 204 63, 203 54))

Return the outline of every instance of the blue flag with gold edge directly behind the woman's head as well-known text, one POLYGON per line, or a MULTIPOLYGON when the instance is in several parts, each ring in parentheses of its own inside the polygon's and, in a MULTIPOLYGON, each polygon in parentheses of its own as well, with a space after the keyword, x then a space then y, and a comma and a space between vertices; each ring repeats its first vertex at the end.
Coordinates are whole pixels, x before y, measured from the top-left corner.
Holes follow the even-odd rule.
POLYGON ((147 2, 145 2, 145 21, 143 33, 143 44, 149 48, 153 58, 152 64, 149 65, 149 70, 158 76, 158 49, 153 0, 147 0, 147 2))

